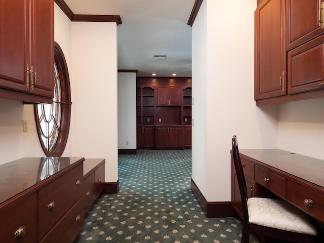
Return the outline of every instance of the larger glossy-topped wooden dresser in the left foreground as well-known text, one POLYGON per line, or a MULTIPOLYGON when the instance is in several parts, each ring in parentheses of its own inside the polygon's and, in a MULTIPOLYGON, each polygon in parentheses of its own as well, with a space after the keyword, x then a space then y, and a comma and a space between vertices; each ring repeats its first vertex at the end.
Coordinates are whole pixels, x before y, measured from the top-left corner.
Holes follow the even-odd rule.
POLYGON ((0 165, 0 242, 72 242, 84 217, 82 157, 0 165))

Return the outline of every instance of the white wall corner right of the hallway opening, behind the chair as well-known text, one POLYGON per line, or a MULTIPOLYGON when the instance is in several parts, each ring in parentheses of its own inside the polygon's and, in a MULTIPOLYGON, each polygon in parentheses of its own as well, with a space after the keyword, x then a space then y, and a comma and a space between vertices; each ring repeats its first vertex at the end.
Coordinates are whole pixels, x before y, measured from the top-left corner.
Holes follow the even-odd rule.
POLYGON ((205 0, 192 26, 192 179, 208 201, 230 201, 233 134, 240 148, 277 147, 277 107, 253 99, 256 6, 205 0))

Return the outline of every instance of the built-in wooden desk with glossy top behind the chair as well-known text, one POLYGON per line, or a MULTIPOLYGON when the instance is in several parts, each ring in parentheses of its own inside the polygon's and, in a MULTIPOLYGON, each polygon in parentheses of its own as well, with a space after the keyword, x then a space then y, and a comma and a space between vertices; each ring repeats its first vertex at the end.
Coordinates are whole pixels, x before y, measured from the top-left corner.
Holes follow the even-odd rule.
MULTIPOLYGON (((241 149, 249 196, 279 196, 324 222, 324 160, 280 149, 241 149)), ((242 206, 231 158, 231 202, 242 218, 242 206)))

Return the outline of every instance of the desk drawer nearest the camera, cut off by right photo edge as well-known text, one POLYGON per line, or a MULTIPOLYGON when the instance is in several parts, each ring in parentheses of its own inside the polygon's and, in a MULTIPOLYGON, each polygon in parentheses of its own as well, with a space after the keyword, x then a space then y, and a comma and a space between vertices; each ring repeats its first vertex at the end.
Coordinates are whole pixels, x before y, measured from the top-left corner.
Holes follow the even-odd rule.
POLYGON ((288 201, 312 217, 324 222, 324 195, 306 188, 300 184, 288 181, 288 201), (312 204, 304 200, 312 200, 312 204))

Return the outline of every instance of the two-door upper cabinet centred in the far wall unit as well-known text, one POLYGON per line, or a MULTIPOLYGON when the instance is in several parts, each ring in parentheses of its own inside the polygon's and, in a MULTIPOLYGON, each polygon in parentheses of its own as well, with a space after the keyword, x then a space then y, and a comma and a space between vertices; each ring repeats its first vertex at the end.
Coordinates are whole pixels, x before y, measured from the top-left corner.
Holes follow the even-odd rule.
POLYGON ((181 105, 181 86, 157 86, 156 105, 181 105))

